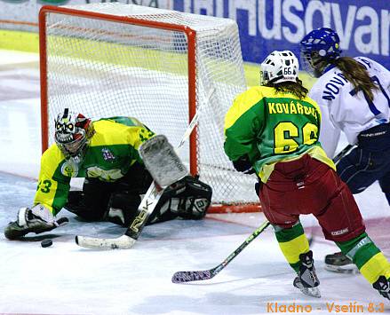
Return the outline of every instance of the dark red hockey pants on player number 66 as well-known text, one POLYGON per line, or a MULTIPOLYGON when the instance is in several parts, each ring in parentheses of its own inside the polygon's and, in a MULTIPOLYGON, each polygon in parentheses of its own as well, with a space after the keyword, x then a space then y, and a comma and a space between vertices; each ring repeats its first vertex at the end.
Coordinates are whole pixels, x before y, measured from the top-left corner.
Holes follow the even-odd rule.
POLYGON ((352 193, 333 169, 308 154, 279 162, 259 198, 271 224, 291 228, 299 215, 313 214, 327 240, 352 240, 365 231, 352 193))

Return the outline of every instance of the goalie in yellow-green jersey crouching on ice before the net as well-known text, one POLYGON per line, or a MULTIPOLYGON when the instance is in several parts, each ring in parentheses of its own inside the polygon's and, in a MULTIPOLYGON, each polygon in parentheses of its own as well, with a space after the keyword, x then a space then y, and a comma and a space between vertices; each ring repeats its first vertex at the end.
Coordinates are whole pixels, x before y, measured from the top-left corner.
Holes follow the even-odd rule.
MULTIPOLYGON (((58 115, 54 127, 55 144, 42 156, 34 205, 20 209, 17 220, 6 226, 5 236, 14 240, 66 224, 67 218, 55 218, 62 208, 85 220, 128 226, 152 183, 138 149, 155 133, 132 117, 92 122, 68 108, 58 115), (72 177, 85 177, 83 191, 69 191, 72 177)), ((185 177, 165 189, 147 222, 200 219, 210 203, 211 187, 185 177)))

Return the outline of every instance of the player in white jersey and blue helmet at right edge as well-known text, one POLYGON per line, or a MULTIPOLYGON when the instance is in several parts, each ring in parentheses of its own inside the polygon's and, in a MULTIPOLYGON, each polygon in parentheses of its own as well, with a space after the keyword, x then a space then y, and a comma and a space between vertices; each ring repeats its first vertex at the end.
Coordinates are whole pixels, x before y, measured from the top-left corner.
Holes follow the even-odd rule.
MULTIPOLYGON (((320 142, 333 157, 340 132, 354 149, 338 163, 338 175, 352 193, 378 180, 390 204, 390 72, 366 57, 341 57, 338 34, 330 28, 309 32, 300 42, 306 70, 318 78, 309 96, 322 111, 320 142)), ((350 271, 352 261, 325 257, 331 271, 350 271)))

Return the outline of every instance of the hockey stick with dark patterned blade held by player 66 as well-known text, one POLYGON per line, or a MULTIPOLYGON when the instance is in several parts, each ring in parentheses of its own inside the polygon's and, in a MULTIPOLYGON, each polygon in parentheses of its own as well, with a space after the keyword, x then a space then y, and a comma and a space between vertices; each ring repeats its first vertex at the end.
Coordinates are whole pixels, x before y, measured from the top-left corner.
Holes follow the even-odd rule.
POLYGON ((191 282, 191 281, 198 281, 198 280, 209 280, 216 276, 222 269, 224 269, 227 264, 229 264, 235 257, 240 254, 243 251, 243 248, 246 248, 252 240, 256 239, 261 232, 267 229, 268 225, 270 223, 266 220, 263 224, 259 226, 254 232, 251 233, 251 235, 243 241, 243 244, 241 244, 238 248, 235 249, 235 251, 227 256, 227 258, 220 263, 218 266, 209 269, 209 270, 203 270, 203 271, 193 271, 193 272, 175 272, 172 276, 172 282, 173 283, 183 283, 183 282, 191 282))

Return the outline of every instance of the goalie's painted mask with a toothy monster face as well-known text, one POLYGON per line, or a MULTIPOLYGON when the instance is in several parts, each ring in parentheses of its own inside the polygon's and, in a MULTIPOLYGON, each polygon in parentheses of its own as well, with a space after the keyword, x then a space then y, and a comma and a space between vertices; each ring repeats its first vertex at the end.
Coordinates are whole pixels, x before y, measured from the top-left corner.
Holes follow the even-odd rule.
POLYGON ((55 142, 66 159, 82 161, 88 142, 95 132, 92 120, 65 108, 64 113, 59 114, 54 121, 54 128, 55 142))

